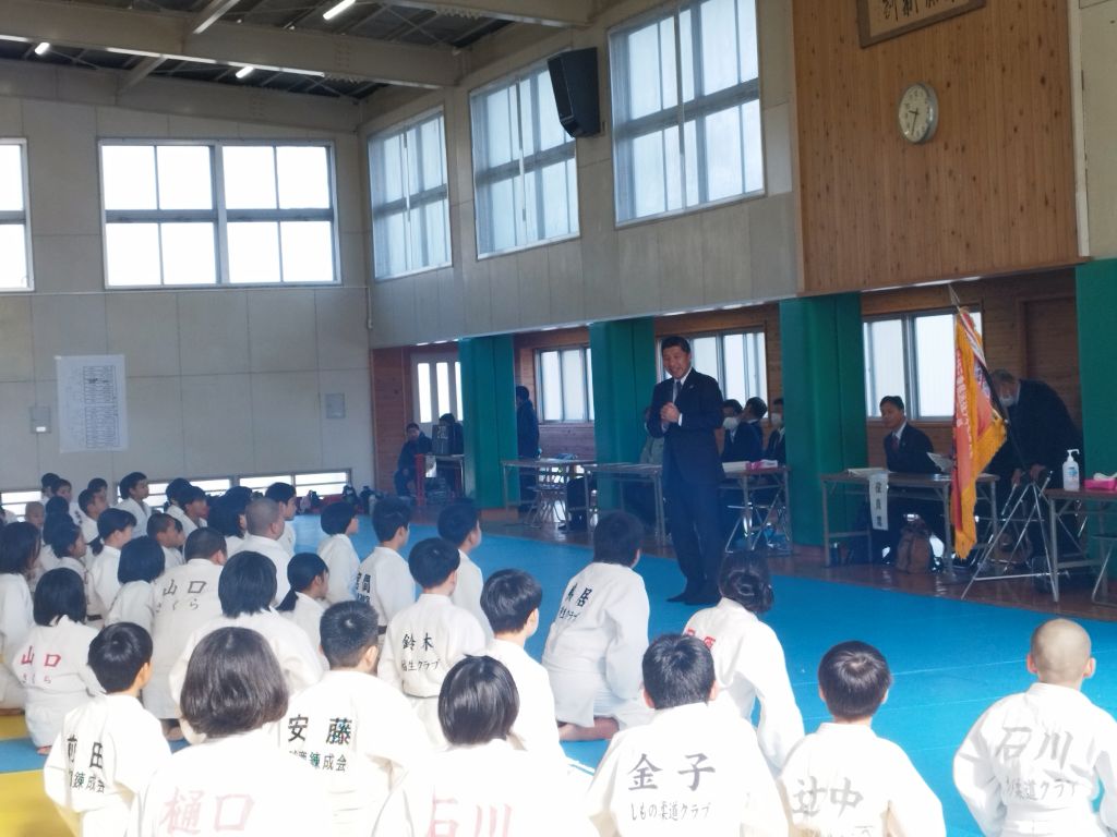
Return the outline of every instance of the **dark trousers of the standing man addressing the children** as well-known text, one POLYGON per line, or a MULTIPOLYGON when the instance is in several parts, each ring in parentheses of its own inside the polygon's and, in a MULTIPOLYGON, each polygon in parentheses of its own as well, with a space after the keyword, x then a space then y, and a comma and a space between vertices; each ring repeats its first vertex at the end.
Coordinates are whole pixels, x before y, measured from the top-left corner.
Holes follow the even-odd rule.
POLYGON ((717 593, 724 536, 718 520, 718 483, 669 480, 663 487, 667 520, 679 569, 690 593, 717 593))

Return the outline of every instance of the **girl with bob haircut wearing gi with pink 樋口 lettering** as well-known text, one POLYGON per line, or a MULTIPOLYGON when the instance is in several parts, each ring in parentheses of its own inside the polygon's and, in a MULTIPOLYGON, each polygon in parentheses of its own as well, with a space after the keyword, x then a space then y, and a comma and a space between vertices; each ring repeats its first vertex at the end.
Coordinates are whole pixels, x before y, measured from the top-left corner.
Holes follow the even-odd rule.
POLYGON ((274 724, 287 696, 279 663, 255 631, 222 627, 198 643, 181 706, 206 741, 155 770, 133 806, 128 834, 166 834, 166 812, 183 798, 207 831, 328 834, 330 805, 315 770, 276 747, 274 724))

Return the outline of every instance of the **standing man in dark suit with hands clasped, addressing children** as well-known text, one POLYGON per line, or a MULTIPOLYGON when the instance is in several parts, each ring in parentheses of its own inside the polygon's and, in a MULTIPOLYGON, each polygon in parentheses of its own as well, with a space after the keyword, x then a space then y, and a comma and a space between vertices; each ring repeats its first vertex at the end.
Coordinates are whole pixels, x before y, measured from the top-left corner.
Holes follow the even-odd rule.
POLYGON ((717 487, 725 477, 714 430, 722 425, 722 388, 690 365, 684 337, 663 339, 663 371, 670 376, 651 395, 648 433, 663 437, 663 492, 671 542, 687 586, 670 602, 712 605, 722 566, 717 487))

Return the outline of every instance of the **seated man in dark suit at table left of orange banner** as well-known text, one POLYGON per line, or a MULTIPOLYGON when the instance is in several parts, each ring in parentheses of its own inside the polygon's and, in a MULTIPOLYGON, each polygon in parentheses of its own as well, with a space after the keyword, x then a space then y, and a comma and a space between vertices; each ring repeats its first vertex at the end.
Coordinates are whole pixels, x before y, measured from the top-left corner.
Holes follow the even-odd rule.
MULTIPOLYGON (((927 455, 933 448, 930 439, 916 426, 908 424, 904 412, 904 400, 899 395, 886 395, 880 400, 880 423, 888 434, 884 437, 885 461, 894 473, 938 473, 938 468, 927 455)), ((872 557, 880 560, 885 548, 889 549, 888 562, 896 560, 896 547, 900 541, 900 530, 908 514, 918 514, 927 528, 941 540, 946 530, 943 520, 943 504, 938 500, 911 500, 888 498, 888 531, 872 530, 872 557)))

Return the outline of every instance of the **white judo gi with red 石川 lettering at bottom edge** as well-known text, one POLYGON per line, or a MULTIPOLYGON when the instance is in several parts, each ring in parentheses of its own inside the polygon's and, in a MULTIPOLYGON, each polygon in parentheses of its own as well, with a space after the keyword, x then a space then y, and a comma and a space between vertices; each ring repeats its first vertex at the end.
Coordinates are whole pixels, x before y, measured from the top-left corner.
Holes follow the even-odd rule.
POLYGON ((592 835, 561 771, 499 739, 436 752, 388 797, 374 837, 592 835))

